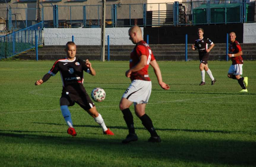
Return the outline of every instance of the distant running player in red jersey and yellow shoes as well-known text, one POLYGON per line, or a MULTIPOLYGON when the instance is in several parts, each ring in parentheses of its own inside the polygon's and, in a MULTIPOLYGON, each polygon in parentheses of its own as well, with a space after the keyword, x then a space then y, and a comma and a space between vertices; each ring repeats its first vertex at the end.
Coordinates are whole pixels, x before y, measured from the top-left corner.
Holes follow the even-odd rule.
POLYGON ((228 78, 236 79, 239 83, 239 85, 242 87, 242 90, 240 92, 247 92, 246 89, 248 85, 248 77, 241 77, 240 75, 243 74, 243 52, 242 48, 238 41, 236 41, 236 33, 231 32, 229 33, 230 37, 230 44, 228 47, 228 57, 232 60, 232 65, 230 65, 230 68, 228 70, 228 78))

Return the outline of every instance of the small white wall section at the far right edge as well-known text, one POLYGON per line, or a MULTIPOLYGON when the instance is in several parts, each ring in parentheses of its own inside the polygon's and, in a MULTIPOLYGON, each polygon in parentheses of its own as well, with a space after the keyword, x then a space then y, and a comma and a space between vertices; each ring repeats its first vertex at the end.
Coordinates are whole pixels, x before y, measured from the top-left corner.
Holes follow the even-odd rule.
POLYGON ((244 43, 255 43, 256 23, 244 23, 244 43))

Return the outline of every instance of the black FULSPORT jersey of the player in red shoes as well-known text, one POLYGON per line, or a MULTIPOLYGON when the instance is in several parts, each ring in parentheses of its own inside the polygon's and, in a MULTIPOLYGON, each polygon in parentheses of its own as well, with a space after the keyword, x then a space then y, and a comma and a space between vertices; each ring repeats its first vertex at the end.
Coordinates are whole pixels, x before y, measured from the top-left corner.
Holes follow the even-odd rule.
POLYGON ((73 61, 66 58, 59 59, 53 64, 48 73, 54 76, 58 71, 61 74, 62 91, 72 93, 86 92, 83 86, 83 71, 90 72, 90 70, 86 66, 85 60, 80 60, 76 57, 73 61))

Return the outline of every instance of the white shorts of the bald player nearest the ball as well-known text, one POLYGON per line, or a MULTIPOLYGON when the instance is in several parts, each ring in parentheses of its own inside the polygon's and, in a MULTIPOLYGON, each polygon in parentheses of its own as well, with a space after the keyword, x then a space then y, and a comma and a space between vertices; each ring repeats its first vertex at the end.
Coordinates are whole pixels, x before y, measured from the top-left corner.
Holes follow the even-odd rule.
POLYGON ((130 100, 134 105, 147 103, 151 89, 151 81, 133 80, 123 94, 123 98, 130 100))

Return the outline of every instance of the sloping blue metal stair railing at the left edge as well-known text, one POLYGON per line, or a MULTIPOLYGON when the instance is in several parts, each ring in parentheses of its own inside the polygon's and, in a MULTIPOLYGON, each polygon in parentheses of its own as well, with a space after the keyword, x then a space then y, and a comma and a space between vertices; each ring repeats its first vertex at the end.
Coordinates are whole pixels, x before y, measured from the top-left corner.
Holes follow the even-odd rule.
POLYGON ((43 22, 18 30, 6 36, 0 37, 0 59, 12 57, 16 54, 34 48, 43 43, 43 22), (37 36, 37 44, 36 44, 37 36))

